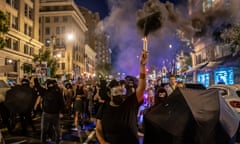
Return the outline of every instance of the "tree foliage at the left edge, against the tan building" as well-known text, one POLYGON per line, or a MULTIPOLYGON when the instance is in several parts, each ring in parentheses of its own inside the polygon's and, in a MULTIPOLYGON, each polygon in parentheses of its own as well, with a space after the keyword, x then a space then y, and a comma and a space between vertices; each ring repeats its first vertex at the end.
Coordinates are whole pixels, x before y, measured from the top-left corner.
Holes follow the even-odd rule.
POLYGON ((9 31, 8 28, 8 18, 7 16, 0 10, 0 49, 2 49, 6 42, 4 39, 4 34, 9 31))

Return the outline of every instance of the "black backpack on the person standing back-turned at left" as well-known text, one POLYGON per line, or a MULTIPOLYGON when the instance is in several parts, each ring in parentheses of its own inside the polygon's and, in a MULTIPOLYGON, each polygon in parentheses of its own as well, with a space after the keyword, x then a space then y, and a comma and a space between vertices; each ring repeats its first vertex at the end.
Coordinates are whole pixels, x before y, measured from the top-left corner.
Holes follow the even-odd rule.
POLYGON ((49 114, 58 114, 62 109, 61 96, 58 90, 47 90, 43 95, 43 111, 49 114))

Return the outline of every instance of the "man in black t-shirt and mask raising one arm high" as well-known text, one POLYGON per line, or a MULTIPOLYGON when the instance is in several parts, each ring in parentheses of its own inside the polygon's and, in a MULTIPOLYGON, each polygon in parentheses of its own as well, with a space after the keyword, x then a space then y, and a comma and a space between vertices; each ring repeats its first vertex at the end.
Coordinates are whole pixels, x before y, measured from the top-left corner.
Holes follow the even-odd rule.
POLYGON ((120 83, 112 80, 109 84, 110 102, 104 103, 97 113, 96 136, 100 144, 138 144, 137 111, 143 102, 146 88, 146 63, 148 52, 140 58, 140 75, 136 92, 123 96, 120 83))

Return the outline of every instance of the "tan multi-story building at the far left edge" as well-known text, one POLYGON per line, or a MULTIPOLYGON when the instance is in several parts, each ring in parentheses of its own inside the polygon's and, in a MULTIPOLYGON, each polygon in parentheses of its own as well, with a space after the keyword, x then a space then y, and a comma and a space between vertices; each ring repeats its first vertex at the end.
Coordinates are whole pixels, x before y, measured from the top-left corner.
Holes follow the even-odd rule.
POLYGON ((42 48, 39 42, 39 0, 1 0, 0 10, 6 13, 9 32, 6 46, 0 50, 0 75, 18 82, 27 75, 25 66, 33 67, 33 55, 42 48))

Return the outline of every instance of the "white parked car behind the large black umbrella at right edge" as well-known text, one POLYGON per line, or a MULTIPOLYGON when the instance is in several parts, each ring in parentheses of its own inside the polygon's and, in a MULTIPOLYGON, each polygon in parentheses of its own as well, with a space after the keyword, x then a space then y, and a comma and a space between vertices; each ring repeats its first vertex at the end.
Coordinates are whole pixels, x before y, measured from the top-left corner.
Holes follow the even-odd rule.
POLYGON ((210 86, 208 89, 218 89, 227 104, 240 118, 240 85, 216 84, 210 86))

